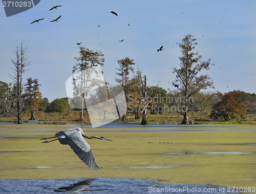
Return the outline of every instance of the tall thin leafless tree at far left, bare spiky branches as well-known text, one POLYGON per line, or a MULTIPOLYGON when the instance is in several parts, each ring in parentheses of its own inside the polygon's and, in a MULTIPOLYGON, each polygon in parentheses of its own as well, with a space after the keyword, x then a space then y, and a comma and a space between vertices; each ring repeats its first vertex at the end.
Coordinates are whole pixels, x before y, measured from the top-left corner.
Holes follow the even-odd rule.
POLYGON ((16 48, 12 52, 14 55, 10 60, 12 61, 14 68, 11 68, 13 70, 13 74, 9 74, 9 77, 14 81, 14 84, 17 86, 17 91, 15 95, 15 101, 16 101, 16 106, 14 107, 15 114, 17 116, 17 123, 22 124, 22 118, 21 118, 21 113, 22 113, 22 106, 23 106, 23 84, 22 84, 22 79, 23 79, 23 74, 26 71, 26 67, 30 64, 28 61, 28 48, 23 46, 23 41, 18 45, 18 42, 16 44, 16 48))

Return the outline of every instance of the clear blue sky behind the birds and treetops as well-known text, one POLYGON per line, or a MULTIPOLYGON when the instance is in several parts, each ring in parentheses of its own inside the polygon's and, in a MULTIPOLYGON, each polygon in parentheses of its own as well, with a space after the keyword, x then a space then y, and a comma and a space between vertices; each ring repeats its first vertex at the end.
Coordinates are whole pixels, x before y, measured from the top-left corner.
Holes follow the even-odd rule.
POLYGON ((66 97, 65 82, 79 56, 76 42, 104 54, 102 70, 115 84, 117 60, 130 57, 147 76, 148 84, 171 90, 180 49, 176 42, 186 34, 197 38, 196 50, 215 66, 209 71, 215 89, 256 93, 256 1, 41 1, 23 13, 6 17, 0 8, 0 80, 11 82, 10 61, 15 44, 23 40, 30 51, 26 78, 37 78, 43 97, 66 97), (48 11, 52 6, 58 10, 48 11), (118 16, 112 15, 115 11, 118 16), (59 22, 50 20, 61 15, 59 22), (45 18, 40 24, 34 19, 45 18), (130 26, 128 25, 130 24, 130 26), (100 27, 98 28, 98 25, 100 27), (123 42, 119 40, 124 39, 123 42), (163 46, 164 50, 157 52, 163 46))

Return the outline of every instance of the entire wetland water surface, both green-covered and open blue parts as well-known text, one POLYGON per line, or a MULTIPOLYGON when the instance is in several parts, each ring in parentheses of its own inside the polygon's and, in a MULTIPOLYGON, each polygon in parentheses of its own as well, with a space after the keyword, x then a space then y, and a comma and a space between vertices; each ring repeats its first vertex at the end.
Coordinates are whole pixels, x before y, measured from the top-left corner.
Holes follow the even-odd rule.
POLYGON ((4 193, 71 192, 70 187, 83 193, 224 193, 228 187, 256 187, 256 126, 250 125, 0 124, 0 153, 4 193), (113 140, 88 140, 100 170, 84 165, 69 146, 39 140, 75 126, 113 140))

